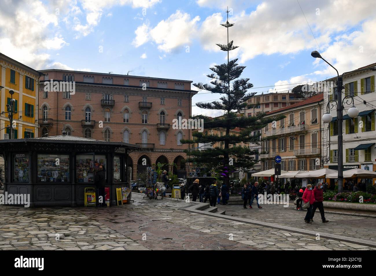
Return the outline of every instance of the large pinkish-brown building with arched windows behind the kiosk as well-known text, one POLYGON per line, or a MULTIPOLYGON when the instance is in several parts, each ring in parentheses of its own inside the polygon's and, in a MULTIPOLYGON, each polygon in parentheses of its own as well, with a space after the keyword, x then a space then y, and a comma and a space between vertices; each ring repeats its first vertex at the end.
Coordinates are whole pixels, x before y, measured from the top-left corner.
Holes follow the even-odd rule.
POLYGON ((140 146, 127 161, 132 179, 158 162, 178 177, 186 177, 180 139, 190 129, 174 129, 191 115, 191 82, 131 75, 58 69, 42 70, 39 88, 39 135, 66 134, 140 146), (74 81, 75 91, 45 91, 49 82, 74 81), (146 163, 144 162, 146 160, 146 163), (173 166, 175 163, 177 166, 173 166))

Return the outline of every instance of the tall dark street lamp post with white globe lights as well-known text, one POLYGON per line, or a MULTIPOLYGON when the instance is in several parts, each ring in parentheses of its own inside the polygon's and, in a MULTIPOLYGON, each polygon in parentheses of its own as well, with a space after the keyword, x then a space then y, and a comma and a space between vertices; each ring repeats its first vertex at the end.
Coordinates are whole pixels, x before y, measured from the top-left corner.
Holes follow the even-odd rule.
MULTIPOLYGON (((326 62, 332 68, 334 68, 333 65, 331 65, 329 62, 327 62, 325 59, 323 59, 323 57, 320 55, 320 53, 318 53, 318 51, 313 51, 311 53, 311 56, 324 60, 324 62, 326 62)), ((357 69, 357 70, 354 70, 354 71, 351 71, 351 72, 365 71, 365 70, 375 71, 376 67, 362 68, 362 69, 357 69)), ((343 142, 343 137, 342 137, 343 113, 342 112, 344 110, 344 103, 346 102, 347 104, 349 104, 348 100, 346 100, 346 99, 351 98, 350 104, 352 103, 352 107, 350 107, 350 109, 347 112, 350 118, 355 118, 356 116, 358 116, 359 110, 358 110, 358 108, 356 108, 354 106, 353 96, 351 96, 351 95, 345 96, 344 99, 342 100, 343 75, 346 74, 346 73, 349 73, 349 72, 344 72, 342 75, 340 75, 340 74, 338 74, 337 69, 335 69, 335 71, 337 72, 337 94, 338 94, 337 102, 335 100, 330 100, 328 102, 327 107, 326 107, 327 113, 323 115, 322 119, 323 119, 324 123, 330 123, 332 121, 332 115, 329 113, 329 110, 332 109, 334 106, 337 107, 337 121, 338 121, 338 193, 341 193, 341 192, 343 192, 343 148, 342 148, 342 146, 343 146, 342 145, 342 142, 343 142), (334 104, 332 104, 332 107, 329 107, 329 104, 331 102, 332 103, 334 102, 334 104)))

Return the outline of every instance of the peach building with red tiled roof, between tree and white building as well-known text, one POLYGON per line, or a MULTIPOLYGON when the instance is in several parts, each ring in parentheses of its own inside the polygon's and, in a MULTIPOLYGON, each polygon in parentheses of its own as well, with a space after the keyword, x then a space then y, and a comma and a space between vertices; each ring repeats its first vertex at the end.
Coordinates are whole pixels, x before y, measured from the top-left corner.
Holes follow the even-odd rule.
POLYGON ((276 155, 282 157, 282 170, 320 169, 322 114, 323 94, 269 112, 266 118, 275 115, 284 115, 286 118, 269 123, 262 129, 263 138, 278 138, 262 142, 262 151, 268 153, 261 154, 261 170, 274 168, 276 155))

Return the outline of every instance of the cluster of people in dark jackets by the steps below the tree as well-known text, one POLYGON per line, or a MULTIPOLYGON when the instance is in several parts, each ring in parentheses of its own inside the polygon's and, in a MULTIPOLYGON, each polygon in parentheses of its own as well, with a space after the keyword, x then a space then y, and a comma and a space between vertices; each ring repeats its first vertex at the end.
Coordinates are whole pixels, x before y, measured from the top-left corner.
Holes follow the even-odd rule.
POLYGON ((210 206, 214 206, 222 199, 222 204, 227 205, 227 199, 229 197, 229 188, 226 184, 223 184, 220 188, 217 186, 217 181, 214 181, 211 185, 200 184, 199 179, 195 179, 193 184, 189 187, 188 191, 192 193, 193 201, 199 197, 200 202, 206 202, 209 200, 210 206))

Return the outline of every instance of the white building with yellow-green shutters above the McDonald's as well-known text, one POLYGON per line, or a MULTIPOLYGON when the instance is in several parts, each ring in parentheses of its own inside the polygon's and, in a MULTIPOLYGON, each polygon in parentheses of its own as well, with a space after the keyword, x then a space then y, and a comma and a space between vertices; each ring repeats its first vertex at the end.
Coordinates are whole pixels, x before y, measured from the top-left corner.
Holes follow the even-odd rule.
MULTIPOLYGON (((359 72, 349 72, 343 77, 344 89, 342 99, 352 96, 354 105, 359 110, 356 118, 346 114, 352 104, 351 98, 344 102, 343 125, 338 129, 337 110, 329 110, 333 119, 329 124, 323 124, 323 157, 324 167, 338 169, 338 133, 343 133, 343 170, 366 169, 376 171, 376 130, 375 130, 375 88, 374 79, 376 63, 364 66, 359 72), (368 68, 368 69, 367 69, 368 68)), ((333 78, 329 81, 336 81, 333 78)), ((324 113, 330 100, 337 100, 337 87, 324 93, 324 113)), ((360 180, 360 179, 358 179, 360 180)), ((368 184, 375 184, 376 179, 364 179, 368 184)), ((337 179, 332 182, 336 184, 337 179)))

